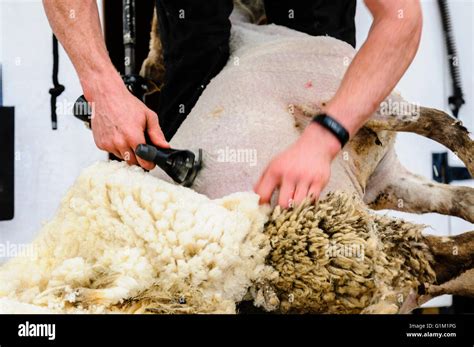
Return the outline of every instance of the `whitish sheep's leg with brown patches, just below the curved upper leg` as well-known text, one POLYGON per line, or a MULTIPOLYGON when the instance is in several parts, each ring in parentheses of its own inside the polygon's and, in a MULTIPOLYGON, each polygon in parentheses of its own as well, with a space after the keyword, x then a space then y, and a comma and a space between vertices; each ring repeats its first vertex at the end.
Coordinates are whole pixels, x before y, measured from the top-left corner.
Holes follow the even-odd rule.
POLYGON ((415 175, 391 149, 367 184, 364 201, 375 210, 436 212, 474 223, 474 188, 451 186, 415 175))

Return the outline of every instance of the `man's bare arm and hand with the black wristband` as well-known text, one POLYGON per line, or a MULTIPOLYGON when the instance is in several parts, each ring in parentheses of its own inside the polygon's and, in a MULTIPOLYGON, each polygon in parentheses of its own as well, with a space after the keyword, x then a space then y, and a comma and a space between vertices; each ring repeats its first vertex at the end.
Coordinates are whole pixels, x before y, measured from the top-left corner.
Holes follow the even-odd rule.
MULTIPOLYGON (((412 62, 421 37, 422 16, 418 0, 365 0, 374 21, 359 52, 349 66, 335 96, 324 112, 333 116, 353 136, 390 94, 412 62)), ((341 147, 328 130, 316 123, 298 141, 272 160, 255 191, 262 203, 279 187, 278 204, 318 198, 330 177, 330 166, 341 147)))

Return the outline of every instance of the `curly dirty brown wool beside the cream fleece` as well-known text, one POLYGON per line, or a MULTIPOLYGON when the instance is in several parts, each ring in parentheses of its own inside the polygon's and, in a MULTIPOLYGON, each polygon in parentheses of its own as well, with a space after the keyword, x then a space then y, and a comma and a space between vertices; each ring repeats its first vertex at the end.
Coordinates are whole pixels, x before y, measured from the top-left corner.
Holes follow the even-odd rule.
POLYGON ((410 292, 435 281, 422 229, 370 213, 348 194, 330 193, 318 206, 277 207, 264 232, 271 245, 267 264, 279 273, 271 283, 279 309, 398 312, 410 292))

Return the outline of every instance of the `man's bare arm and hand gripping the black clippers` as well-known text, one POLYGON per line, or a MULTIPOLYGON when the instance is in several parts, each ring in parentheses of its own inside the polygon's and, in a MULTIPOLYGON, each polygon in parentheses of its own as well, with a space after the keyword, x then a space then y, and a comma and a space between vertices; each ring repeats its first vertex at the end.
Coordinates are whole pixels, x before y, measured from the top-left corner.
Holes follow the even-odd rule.
POLYGON ((134 149, 152 142, 169 147, 156 113, 125 87, 109 58, 96 0, 43 0, 51 27, 79 75, 84 96, 94 103, 92 131, 96 145, 129 164, 154 165, 136 158, 134 149))

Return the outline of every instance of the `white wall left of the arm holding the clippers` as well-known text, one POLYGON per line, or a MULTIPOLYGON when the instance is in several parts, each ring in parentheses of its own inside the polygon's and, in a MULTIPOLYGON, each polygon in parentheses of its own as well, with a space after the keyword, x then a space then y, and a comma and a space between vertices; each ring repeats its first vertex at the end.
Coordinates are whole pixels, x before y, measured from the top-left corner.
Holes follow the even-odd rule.
MULTIPOLYGON (((52 32, 41 0, 0 0, 0 62, 6 106, 15 106, 15 218, 0 222, 0 243, 30 242, 50 219, 80 170, 106 158, 92 134, 70 112, 51 129, 52 32)), ((58 104, 82 94, 73 66, 60 49, 58 104)), ((0 258, 0 262, 2 259, 0 258)))

